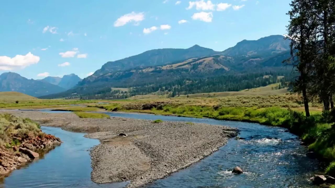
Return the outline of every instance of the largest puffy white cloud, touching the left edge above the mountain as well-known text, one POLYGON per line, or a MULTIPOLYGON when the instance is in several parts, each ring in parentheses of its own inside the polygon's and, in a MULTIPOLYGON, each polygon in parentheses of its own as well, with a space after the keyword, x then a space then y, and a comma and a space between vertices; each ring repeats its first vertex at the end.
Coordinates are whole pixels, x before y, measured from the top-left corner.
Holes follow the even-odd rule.
POLYGON ((34 56, 30 52, 24 56, 16 55, 14 58, 0 56, 0 70, 10 71, 14 69, 23 69, 29 65, 37 64, 40 57, 34 56))

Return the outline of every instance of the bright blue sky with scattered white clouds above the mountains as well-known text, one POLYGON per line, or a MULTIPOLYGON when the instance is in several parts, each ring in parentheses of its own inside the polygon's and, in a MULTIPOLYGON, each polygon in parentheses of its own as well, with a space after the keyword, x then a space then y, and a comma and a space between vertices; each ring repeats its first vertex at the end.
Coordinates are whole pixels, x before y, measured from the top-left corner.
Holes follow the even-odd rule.
POLYGON ((285 34, 290 0, 3 1, 0 74, 28 79, 77 74, 147 50, 223 51, 285 34), (183 20, 183 21, 181 21, 183 20))

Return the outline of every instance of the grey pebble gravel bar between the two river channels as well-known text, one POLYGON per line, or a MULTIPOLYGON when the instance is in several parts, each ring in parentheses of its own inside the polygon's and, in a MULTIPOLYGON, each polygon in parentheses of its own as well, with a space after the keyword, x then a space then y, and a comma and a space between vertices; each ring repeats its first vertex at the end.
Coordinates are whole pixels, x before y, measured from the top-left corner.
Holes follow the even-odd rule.
POLYGON ((128 188, 141 187, 192 165, 238 134, 236 128, 112 117, 81 119, 73 113, 8 111, 44 126, 87 132, 99 139, 93 147, 91 178, 96 183, 129 181, 128 188), (124 133, 127 136, 118 136, 124 133))

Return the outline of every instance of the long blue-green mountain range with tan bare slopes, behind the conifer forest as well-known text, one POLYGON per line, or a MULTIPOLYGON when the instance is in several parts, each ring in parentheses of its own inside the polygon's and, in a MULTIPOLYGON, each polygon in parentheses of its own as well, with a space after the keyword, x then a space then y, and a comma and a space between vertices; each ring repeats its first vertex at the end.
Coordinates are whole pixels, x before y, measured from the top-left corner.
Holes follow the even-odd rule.
POLYGON ((164 88, 167 85, 173 88, 176 86, 172 83, 187 79, 281 71, 282 61, 290 56, 289 44, 290 40, 284 36, 271 35, 258 40, 243 40, 222 52, 199 45, 188 49, 149 50, 107 62, 83 80, 73 74, 62 79, 47 77, 41 81, 58 86, 60 93, 48 91, 49 95, 43 98, 99 96, 110 93, 111 88, 164 88))

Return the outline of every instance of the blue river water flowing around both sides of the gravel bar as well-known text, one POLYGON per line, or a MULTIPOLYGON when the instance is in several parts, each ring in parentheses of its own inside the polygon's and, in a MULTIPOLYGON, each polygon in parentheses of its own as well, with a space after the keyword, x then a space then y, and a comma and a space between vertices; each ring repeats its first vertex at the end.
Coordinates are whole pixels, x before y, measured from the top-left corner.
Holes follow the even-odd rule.
MULTIPOLYGON (((52 113, 60 113, 59 111, 52 113)), ((230 139, 219 151, 174 173, 165 179, 149 184, 148 188, 203 188, 241 187, 268 188, 314 187, 308 178, 320 169, 317 160, 305 156, 306 147, 300 146, 298 138, 278 127, 255 123, 219 121, 151 114, 106 112, 111 116, 136 119, 161 119, 163 121, 187 121, 237 127, 240 137, 230 139), (246 173, 233 175, 231 170, 240 166, 246 173)), ((124 183, 98 185, 90 181, 90 157, 87 151, 99 144, 98 140, 83 137, 83 133, 64 131, 60 128, 42 127, 64 143, 20 170, 5 178, 0 188, 117 188, 124 183)))

